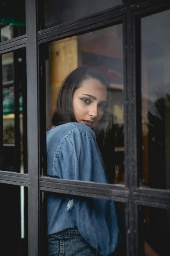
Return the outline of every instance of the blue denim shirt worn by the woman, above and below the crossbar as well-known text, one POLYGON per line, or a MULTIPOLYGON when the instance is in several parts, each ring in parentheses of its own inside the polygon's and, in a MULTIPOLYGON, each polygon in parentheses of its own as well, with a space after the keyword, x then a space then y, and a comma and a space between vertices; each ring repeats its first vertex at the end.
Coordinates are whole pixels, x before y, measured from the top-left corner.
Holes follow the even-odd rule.
MULTIPOLYGON (((59 179, 108 183, 91 128, 67 123, 47 132, 47 174, 59 179)), ((115 205, 104 199, 51 194, 48 235, 76 228, 99 254, 110 255, 121 241, 121 220, 115 205)))

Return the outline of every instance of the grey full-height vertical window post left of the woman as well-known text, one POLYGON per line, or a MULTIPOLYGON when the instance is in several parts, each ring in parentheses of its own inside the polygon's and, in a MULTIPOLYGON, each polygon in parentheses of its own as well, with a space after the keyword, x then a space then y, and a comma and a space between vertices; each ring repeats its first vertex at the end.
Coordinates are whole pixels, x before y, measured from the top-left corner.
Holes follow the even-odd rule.
POLYGON ((27 135, 28 135, 28 256, 38 256, 38 90, 36 1, 26 0, 27 135))

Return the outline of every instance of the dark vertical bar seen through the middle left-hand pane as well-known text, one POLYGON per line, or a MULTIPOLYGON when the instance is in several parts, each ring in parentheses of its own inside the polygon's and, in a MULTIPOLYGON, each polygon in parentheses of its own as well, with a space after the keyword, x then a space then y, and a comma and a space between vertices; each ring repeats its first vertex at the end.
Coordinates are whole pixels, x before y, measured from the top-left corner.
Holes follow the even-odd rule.
POLYGON ((16 172, 20 172, 21 165, 21 149, 20 149, 20 106, 19 106, 19 84, 20 84, 20 72, 19 72, 19 51, 13 52, 14 61, 14 131, 15 131, 15 169, 16 172))

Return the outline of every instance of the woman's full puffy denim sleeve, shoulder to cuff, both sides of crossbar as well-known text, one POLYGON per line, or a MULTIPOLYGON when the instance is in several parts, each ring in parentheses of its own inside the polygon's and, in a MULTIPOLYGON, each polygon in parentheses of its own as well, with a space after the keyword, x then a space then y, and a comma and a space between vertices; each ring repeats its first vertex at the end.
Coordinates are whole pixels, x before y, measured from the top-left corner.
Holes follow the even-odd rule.
MULTIPOLYGON (((87 132, 76 129, 64 137, 56 151, 54 176, 107 183, 100 151, 87 132)), ((113 253, 121 240, 114 202, 76 196, 66 200, 71 201, 67 211, 72 226, 100 255, 113 253)))

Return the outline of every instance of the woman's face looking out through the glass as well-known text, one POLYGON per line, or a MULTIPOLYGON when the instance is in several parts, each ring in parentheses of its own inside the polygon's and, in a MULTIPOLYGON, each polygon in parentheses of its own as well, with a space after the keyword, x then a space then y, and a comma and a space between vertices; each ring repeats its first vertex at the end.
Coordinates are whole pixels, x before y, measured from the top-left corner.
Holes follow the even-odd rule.
POLYGON ((97 79, 86 79, 73 94, 73 111, 78 123, 93 128, 107 107, 107 88, 97 79))

